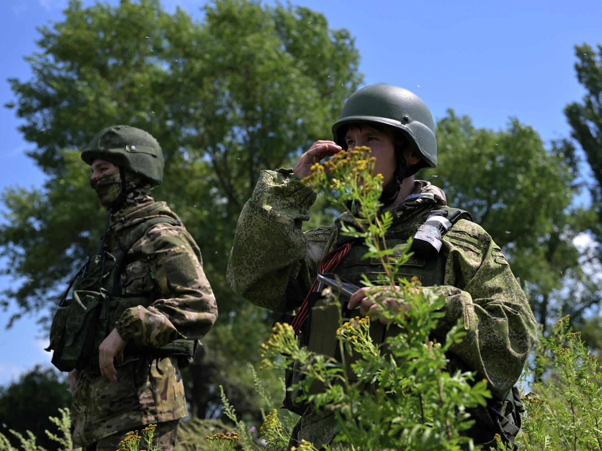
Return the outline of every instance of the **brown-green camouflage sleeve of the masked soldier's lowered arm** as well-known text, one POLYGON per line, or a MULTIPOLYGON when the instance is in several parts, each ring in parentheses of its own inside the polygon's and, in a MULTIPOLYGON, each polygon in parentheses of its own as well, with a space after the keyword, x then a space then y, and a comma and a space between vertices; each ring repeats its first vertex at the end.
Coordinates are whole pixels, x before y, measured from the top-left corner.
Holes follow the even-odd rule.
POLYGON ((217 304, 193 238, 181 227, 160 223, 137 246, 161 296, 147 308, 126 309, 116 323, 119 335, 154 347, 203 337, 217 319, 217 304))

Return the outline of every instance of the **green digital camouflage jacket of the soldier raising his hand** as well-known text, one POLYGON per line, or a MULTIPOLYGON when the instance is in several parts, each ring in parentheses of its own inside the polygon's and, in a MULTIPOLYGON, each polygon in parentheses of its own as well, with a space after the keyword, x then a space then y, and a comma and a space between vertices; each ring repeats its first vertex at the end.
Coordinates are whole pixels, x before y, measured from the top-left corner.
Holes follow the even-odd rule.
MULTIPOLYGON (((353 225, 350 214, 329 226, 303 233, 303 220, 315 193, 290 169, 262 171, 252 198, 238 219, 228 264, 232 289, 255 305, 278 312, 298 308, 315 279, 321 258, 335 249, 338 223, 353 225)), ((428 182, 388 207, 396 216, 390 234, 414 235, 430 210, 445 205, 445 194, 428 182)), ((435 332, 461 320, 467 332, 452 352, 462 366, 486 379, 494 397, 503 399, 515 384, 536 336, 526 296, 491 236, 461 219, 445 235, 443 284, 424 287, 428 296, 445 296, 445 317, 435 332)))

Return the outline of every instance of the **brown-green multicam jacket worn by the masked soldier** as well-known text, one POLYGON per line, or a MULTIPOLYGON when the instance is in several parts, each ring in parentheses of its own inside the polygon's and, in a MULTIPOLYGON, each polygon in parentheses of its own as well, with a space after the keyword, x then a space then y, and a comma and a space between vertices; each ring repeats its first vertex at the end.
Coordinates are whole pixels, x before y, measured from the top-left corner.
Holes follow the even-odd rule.
MULTIPOLYGON (((105 249, 114 249, 131 226, 158 216, 178 219, 164 202, 151 198, 149 188, 130 193, 111 216, 105 249)), ((126 254, 121 282, 122 294, 151 293, 152 299, 147 308, 126 309, 116 323, 128 343, 161 347, 180 338, 196 340, 217 318, 199 247, 183 225, 152 226, 126 254)), ((117 382, 102 378, 98 365, 79 371, 72 406, 73 441, 78 446, 188 415, 175 357, 126 352, 116 370, 117 382)))

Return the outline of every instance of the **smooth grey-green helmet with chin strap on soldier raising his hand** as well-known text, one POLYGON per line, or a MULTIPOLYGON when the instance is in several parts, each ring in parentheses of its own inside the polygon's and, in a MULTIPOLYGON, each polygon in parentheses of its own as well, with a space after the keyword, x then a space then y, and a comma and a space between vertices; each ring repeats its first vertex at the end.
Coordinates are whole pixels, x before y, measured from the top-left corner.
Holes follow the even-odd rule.
POLYGON ((373 84, 353 93, 343 107, 339 120, 332 126, 334 141, 347 147, 344 134, 350 123, 367 122, 388 125, 399 130, 396 139, 397 168, 394 180, 383 188, 380 198, 385 205, 391 204, 399 193, 403 179, 414 175, 423 167, 437 165, 437 140, 435 122, 429 108, 414 93, 390 84, 373 84), (403 146, 409 142, 421 160, 407 167, 403 146))

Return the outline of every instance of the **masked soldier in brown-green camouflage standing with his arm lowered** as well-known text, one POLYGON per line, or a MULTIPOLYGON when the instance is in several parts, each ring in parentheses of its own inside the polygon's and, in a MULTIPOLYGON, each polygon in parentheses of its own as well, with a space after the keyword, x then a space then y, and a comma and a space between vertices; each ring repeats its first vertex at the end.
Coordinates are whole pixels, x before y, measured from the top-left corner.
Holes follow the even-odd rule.
POLYGON ((172 450, 188 415, 180 368, 216 321, 216 300, 199 247, 166 203, 151 197, 163 180, 157 140, 113 126, 82 159, 108 210, 107 227, 71 281, 72 296, 67 290, 61 300, 48 348, 58 369, 69 371, 73 442, 115 451, 126 432, 156 424, 155 445, 172 450))

